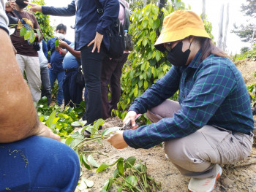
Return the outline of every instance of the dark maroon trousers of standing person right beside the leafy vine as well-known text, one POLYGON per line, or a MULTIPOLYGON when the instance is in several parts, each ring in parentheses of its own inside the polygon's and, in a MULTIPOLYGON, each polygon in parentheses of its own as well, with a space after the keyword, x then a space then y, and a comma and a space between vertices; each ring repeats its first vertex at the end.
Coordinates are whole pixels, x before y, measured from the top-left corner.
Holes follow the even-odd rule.
POLYGON ((102 118, 111 116, 111 111, 117 109, 121 95, 121 71, 127 61, 128 53, 120 58, 110 59, 105 57, 102 61, 101 89, 102 89, 102 118), (111 99, 108 101, 108 85, 110 85, 111 99))

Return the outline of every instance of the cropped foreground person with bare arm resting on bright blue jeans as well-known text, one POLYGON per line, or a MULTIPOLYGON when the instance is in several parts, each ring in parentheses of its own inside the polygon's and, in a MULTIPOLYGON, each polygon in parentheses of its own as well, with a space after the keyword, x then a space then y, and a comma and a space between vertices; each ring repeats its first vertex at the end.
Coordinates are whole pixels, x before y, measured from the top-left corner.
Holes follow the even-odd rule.
POLYGON ((7 26, 0 0, 0 191, 75 191, 78 155, 37 118, 7 26))

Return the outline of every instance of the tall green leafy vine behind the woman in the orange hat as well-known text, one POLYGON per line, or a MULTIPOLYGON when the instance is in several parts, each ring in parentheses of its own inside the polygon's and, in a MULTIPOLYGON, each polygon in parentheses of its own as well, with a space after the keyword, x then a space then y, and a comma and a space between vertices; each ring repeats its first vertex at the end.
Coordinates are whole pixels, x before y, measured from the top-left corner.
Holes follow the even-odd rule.
MULTIPOLYGON (((146 5, 143 9, 134 10, 131 17, 132 24, 129 26, 134 49, 123 68, 121 99, 118 103, 118 111, 115 111, 120 118, 127 115, 127 110, 135 98, 141 96, 170 69, 171 64, 166 59, 166 53, 157 50, 154 44, 162 30, 165 16, 180 9, 186 9, 184 2, 172 0, 171 4, 166 4, 161 10, 153 3, 146 5)), ((213 39, 211 23, 204 20, 204 24, 206 31, 213 39)), ((178 100, 177 93, 172 99, 178 100)))

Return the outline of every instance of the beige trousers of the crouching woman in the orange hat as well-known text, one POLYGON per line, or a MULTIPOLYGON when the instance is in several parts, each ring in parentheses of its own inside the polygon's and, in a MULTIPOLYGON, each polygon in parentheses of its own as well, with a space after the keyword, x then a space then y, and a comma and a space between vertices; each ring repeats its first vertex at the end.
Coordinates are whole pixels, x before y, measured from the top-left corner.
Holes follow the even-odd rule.
MULTIPOLYGON (((167 99, 148 110, 147 117, 155 123, 172 118, 180 105, 167 99)), ((232 134, 223 128, 203 126, 195 133, 165 142, 165 153, 181 174, 195 178, 214 177, 216 164, 232 164, 248 157, 252 150, 253 134, 232 134)))

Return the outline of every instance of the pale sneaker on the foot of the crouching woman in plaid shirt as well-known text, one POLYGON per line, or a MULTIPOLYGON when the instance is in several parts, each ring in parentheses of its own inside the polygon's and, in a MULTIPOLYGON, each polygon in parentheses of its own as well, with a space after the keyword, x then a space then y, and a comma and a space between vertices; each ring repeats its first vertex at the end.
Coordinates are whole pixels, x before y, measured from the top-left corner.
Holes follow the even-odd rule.
POLYGON ((222 168, 216 164, 214 169, 217 169, 215 177, 208 177, 205 179, 191 178, 189 181, 189 191, 192 192, 210 192, 214 190, 217 179, 222 175, 222 168))

